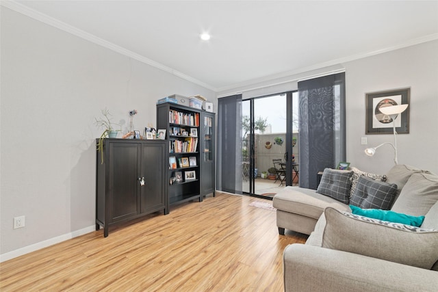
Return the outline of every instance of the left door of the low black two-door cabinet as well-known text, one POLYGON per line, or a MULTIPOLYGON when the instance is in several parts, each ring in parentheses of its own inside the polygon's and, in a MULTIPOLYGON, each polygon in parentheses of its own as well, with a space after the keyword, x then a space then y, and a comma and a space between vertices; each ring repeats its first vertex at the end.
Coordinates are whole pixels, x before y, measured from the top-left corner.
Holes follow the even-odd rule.
POLYGON ((124 220, 138 213, 138 145, 110 143, 108 191, 110 221, 124 220))

